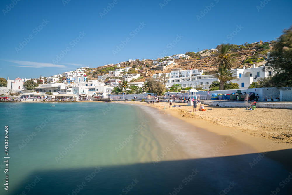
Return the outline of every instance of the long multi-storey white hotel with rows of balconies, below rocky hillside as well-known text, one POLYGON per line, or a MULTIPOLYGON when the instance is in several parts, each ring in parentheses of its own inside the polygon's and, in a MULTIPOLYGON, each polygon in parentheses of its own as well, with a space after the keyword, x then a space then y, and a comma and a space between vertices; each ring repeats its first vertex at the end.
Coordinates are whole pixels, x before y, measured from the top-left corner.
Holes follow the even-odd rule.
POLYGON ((166 82, 168 89, 174 84, 181 84, 183 88, 203 87, 203 89, 208 89, 213 81, 218 81, 214 75, 203 75, 203 70, 181 70, 180 68, 173 69, 170 73, 155 74, 152 77, 157 79, 164 74, 168 78, 166 82))

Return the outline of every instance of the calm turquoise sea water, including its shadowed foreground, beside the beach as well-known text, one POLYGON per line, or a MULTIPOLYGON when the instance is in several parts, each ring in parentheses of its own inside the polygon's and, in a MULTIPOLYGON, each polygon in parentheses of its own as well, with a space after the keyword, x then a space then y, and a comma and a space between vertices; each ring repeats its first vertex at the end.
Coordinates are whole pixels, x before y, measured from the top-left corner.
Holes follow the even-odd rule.
POLYGON ((251 168, 249 163, 258 154, 216 157, 211 142, 222 137, 204 134, 157 110, 118 103, 51 105, 0 104, 1 147, 4 150, 4 126, 9 126, 10 157, 9 191, 4 190, 5 159, 0 161, 0 194, 270 194, 277 187, 281 189, 277 194, 286 194, 291 190, 291 184, 279 186, 289 176, 280 163, 263 157, 251 168))

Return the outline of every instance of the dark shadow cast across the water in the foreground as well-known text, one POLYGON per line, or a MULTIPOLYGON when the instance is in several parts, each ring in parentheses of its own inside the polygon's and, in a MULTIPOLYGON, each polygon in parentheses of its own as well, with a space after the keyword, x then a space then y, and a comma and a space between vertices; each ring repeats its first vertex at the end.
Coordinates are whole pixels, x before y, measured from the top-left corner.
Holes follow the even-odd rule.
POLYGON ((281 156, 280 161, 274 161, 267 156, 259 157, 259 154, 255 153, 161 161, 155 165, 154 163, 140 163, 100 166, 100 172, 95 167, 36 171, 26 177, 21 182, 22 184, 13 191, 13 194, 21 194, 22 191, 27 194, 42 195, 271 194, 271 191, 275 191, 276 188, 280 189, 277 194, 290 194, 292 180, 284 187, 279 184, 288 178, 289 172, 291 172, 291 161, 289 164, 288 158, 285 158, 289 157, 287 154, 291 153, 292 149, 268 153, 270 156, 275 156, 274 158, 277 158, 277 155, 281 156), (283 162, 287 162, 288 166, 283 162), (254 164, 252 168, 250 163, 254 164), (95 175, 94 171, 98 173, 95 175), (91 178, 88 175, 91 175, 91 178), (28 192, 30 188, 26 186, 36 180, 36 176, 40 176, 42 179, 28 192), (86 185, 81 187, 82 182, 86 185), (78 189, 78 186, 81 190, 78 189), (177 193, 175 190, 179 192, 177 193))

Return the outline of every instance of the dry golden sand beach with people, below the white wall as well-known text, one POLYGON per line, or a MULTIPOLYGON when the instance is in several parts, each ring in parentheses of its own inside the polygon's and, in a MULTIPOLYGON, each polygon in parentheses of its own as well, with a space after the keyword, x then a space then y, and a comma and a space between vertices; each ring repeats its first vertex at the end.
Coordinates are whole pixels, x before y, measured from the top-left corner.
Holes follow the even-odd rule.
POLYGON ((292 148, 292 110, 257 108, 251 111, 245 108, 203 105, 207 109, 206 111, 193 112, 193 106, 187 106, 187 103, 173 103, 172 106, 176 104, 181 107, 171 109, 167 102, 148 105, 147 102, 123 103, 151 106, 157 109, 160 107, 161 114, 164 113, 165 105, 166 113, 196 127, 223 136, 230 136, 230 133, 236 131, 237 135, 234 139, 250 145, 258 152, 270 149, 267 144, 271 143, 272 149, 270 151, 292 148))

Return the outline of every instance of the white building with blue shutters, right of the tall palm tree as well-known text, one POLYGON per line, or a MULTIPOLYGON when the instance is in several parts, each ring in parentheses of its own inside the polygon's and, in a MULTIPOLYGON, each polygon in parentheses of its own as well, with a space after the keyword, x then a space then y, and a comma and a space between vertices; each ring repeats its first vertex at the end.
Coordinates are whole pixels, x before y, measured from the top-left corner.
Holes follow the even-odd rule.
POLYGON ((259 66, 255 67, 253 65, 252 68, 236 68, 232 69, 233 76, 236 76, 239 80, 233 80, 233 83, 238 83, 240 89, 247 89, 252 82, 256 82, 260 78, 274 76, 275 72, 268 69, 268 66, 259 66))

